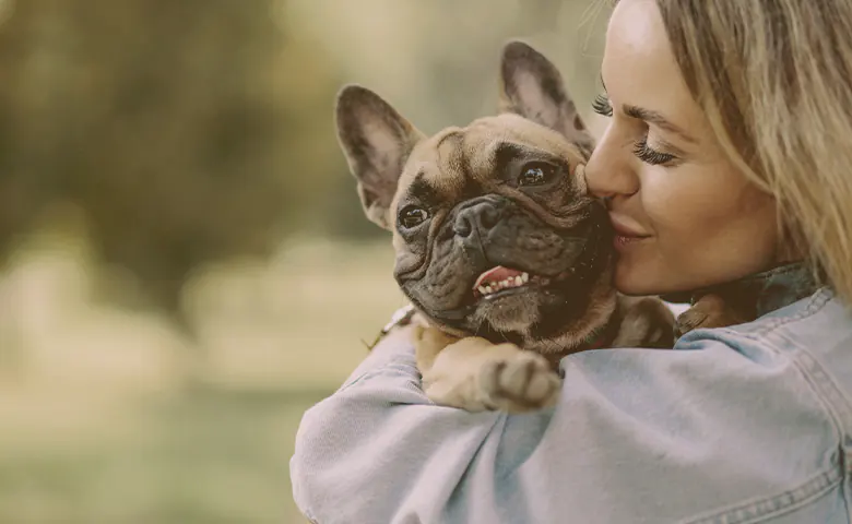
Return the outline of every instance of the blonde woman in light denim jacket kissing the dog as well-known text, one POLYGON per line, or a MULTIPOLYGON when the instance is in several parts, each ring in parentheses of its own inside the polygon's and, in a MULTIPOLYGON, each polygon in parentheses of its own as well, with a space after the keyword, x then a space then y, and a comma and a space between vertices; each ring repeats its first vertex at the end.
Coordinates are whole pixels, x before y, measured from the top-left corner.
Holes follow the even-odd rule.
POLYGON ((523 416, 430 405, 393 333, 305 415, 310 519, 850 522, 852 2, 622 0, 602 76, 616 286, 757 286, 760 317, 566 357, 523 416))

